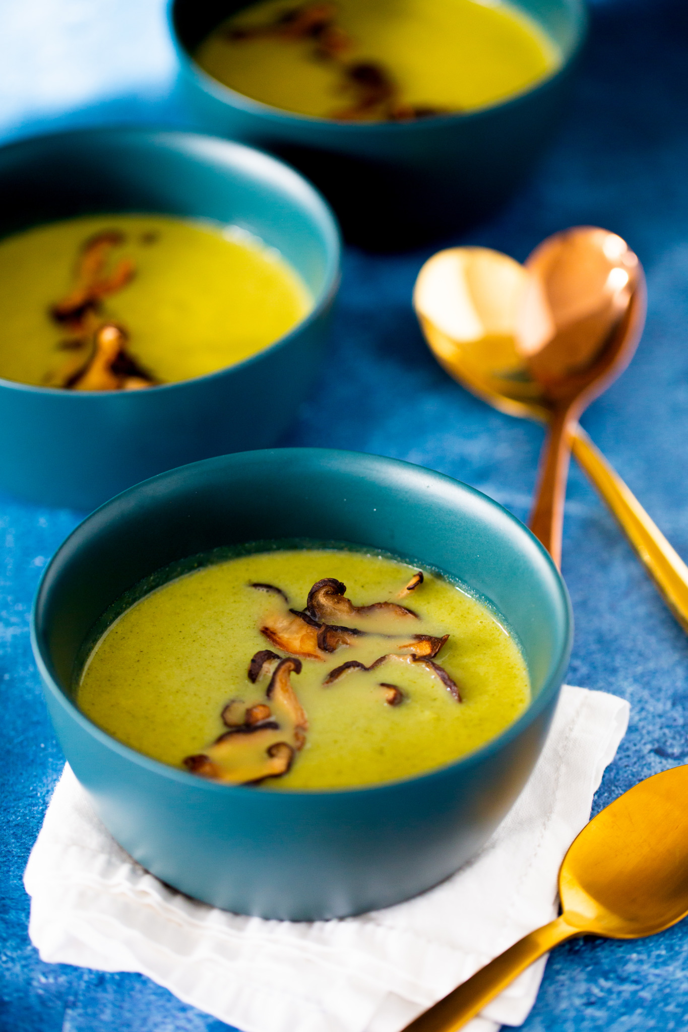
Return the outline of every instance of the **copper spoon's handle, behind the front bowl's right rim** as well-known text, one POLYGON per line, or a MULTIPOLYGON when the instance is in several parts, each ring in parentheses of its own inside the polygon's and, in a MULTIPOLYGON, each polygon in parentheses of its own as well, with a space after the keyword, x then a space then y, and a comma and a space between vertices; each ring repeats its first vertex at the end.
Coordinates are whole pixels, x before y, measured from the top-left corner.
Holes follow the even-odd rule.
POLYGON ((566 478, 575 417, 568 407, 557 409, 550 420, 543 447, 535 501, 528 526, 561 566, 561 531, 564 520, 566 478))

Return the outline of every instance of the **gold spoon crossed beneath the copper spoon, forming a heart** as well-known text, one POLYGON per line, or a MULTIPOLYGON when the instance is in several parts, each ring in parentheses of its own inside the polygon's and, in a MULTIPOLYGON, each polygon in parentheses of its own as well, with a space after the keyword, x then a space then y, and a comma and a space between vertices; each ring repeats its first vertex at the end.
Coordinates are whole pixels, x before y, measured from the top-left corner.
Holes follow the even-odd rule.
MULTIPOLYGON (((593 232, 604 233, 612 258, 615 251, 621 252, 623 241, 617 243, 620 237, 616 234, 593 232)), ((542 250, 538 248, 529 261, 534 262, 542 250)), ((560 264, 558 272, 562 267, 560 264)), ((621 276, 614 276, 617 283, 613 278, 609 286, 623 291, 621 276)), ((537 340, 537 316, 548 322, 554 320, 554 315, 543 312, 537 304, 532 314, 533 305, 523 297, 529 282, 527 270, 506 255, 486 248, 454 248, 425 263, 416 283, 414 303, 430 349, 454 379, 502 412, 549 420, 551 408, 523 352, 528 351, 528 341, 537 340)), ((557 302, 559 298, 555 292, 557 302)), ((641 295, 638 300, 643 298, 641 295)), ((570 307, 553 307, 559 312, 563 309, 564 315, 570 313, 570 307)), ((583 315, 589 317, 591 309, 594 313, 594 305, 589 305, 583 315)), ((641 310, 640 323, 642 314, 641 310)), ((640 329, 637 325, 638 335, 640 329)), ((576 423, 570 431, 576 457, 630 538, 675 616, 688 631, 688 568, 585 431, 576 423)))

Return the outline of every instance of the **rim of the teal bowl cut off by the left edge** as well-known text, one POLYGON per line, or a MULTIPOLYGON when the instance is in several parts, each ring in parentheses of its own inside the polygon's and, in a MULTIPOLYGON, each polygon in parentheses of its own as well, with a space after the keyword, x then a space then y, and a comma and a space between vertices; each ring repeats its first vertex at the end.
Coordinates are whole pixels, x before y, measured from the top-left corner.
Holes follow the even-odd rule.
MULTIPOLYGON (((36 133, 31 136, 23 136, 22 139, 11 140, 8 143, 0 146, 0 159, 2 155, 9 151, 22 150, 31 146, 35 146, 41 142, 53 142, 63 139, 68 139, 69 137, 77 138, 97 138, 98 136, 108 137, 111 136, 117 139, 121 138, 139 138, 146 139, 149 144, 152 144, 153 149, 158 150, 161 146, 161 140, 163 146, 166 143, 172 143, 174 140, 186 140, 192 141, 197 140, 199 142, 212 142, 216 148, 220 151, 224 151, 226 155, 234 154, 239 155, 243 153, 244 155, 252 155, 254 161, 258 161, 266 169, 272 169, 276 172, 279 169, 279 174, 285 176, 288 181, 291 180, 292 184, 299 186, 299 189, 304 192, 305 196, 308 198, 308 202, 315 205, 318 218, 318 230, 321 240, 324 245, 326 252, 326 263, 325 263, 325 278, 323 281, 323 287, 319 291, 318 297, 314 297, 314 305, 310 311, 297 322, 287 333, 283 333, 279 336, 276 341, 268 344, 265 348, 257 351, 254 355, 249 355, 247 358, 242 358, 238 362, 233 362, 231 365, 224 365, 220 369, 214 369, 210 373, 204 373, 198 377, 189 377, 186 380, 174 380, 169 383, 156 384, 152 388, 156 395, 160 391, 169 392, 172 390, 183 390, 185 387, 191 384, 203 383, 205 381, 215 380, 218 378, 226 377, 231 375, 235 369, 244 368, 249 365, 255 364, 262 361, 268 354, 277 351, 282 348, 286 348, 298 334, 308 329, 310 325, 317 322, 324 312, 326 312, 336 293, 339 289, 339 284, 341 281, 341 231, 339 229, 339 224, 337 222, 336 216, 327 202, 325 197, 321 192, 297 169, 293 168, 288 162, 282 161, 274 155, 268 154, 266 151, 261 150, 258 147, 252 147, 250 143, 242 143, 239 140, 227 139, 224 136, 215 136, 211 133, 196 132, 194 130, 186 129, 169 129, 169 128, 157 128, 156 126, 133 126, 133 125, 112 125, 112 126, 92 126, 79 129, 65 129, 56 130, 54 132, 46 133, 36 133)), ((169 147, 169 150, 176 150, 173 147, 169 147)), ((176 153, 183 153, 181 150, 176 153)), ((190 157, 190 155, 186 155, 190 157)), ((196 160, 197 155, 194 155, 194 160, 196 160)), ((50 169, 46 170, 46 175, 50 175, 50 169)), ((107 215, 107 213, 103 213, 107 215)), ((181 218, 188 221, 194 221, 196 217, 182 217, 175 216, 173 213, 164 212, 120 212, 114 213, 116 215, 168 215, 171 218, 181 218)), ((86 214, 89 217, 89 213, 86 214)), ((98 213, 93 213, 93 217, 97 218, 98 213)), ((48 220, 45 222, 40 222, 37 226, 47 226, 52 225, 54 222, 67 221, 63 219, 48 220)), ((36 227, 29 227, 36 228, 36 227)), ((25 230, 19 230, 18 233, 9 233, 6 235, 0 235, 0 241, 8 239, 10 236, 19 235, 19 233, 25 230)), ((286 260, 286 259, 285 259, 286 260)), ((288 263, 291 264, 291 263, 288 263)), ((298 271, 298 270, 297 270, 298 271)), ((131 399, 132 393, 136 397, 150 397, 150 392, 148 390, 143 391, 123 391, 123 390, 90 390, 90 391, 70 391, 65 390, 62 387, 43 387, 39 384, 27 384, 22 383, 19 380, 7 380, 5 377, 0 376, 0 389, 12 389, 20 392, 37 393, 39 395, 57 396, 60 398, 71 398, 76 400, 76 404, 86 404, 86 401, 93 402, 94 398, 98 397, 127 397, 131 399)), ((73 404, 67 402, 67 404, 73 404)), ((142 402, 145 404, 145 402, 142 402)))

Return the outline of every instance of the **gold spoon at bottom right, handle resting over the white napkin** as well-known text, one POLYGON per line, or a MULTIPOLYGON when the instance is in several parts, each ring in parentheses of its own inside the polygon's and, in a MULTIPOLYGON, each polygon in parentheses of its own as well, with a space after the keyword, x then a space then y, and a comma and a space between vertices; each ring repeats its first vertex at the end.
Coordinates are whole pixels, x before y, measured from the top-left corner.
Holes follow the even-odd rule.
POLYGON ((530 932, 404 1032, 455 1032, 538 957, 566 939, 636 939, 688 914, 688 767, 624 793, 574 840, 559 871, 562 913, 530 932))

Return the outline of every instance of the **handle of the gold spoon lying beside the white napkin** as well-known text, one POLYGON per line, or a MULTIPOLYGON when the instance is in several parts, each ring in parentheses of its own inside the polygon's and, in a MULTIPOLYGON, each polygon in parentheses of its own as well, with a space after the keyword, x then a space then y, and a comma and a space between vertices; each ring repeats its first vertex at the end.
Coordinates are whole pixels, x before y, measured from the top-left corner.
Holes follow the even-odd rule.
POLYGON ((407 1025, 404 1032, 455 1032, 480 1013, 533 961, 560 942, 581 934, 581 929, 568 925, 563 914, 549 925, 529 932, 407 1025))

